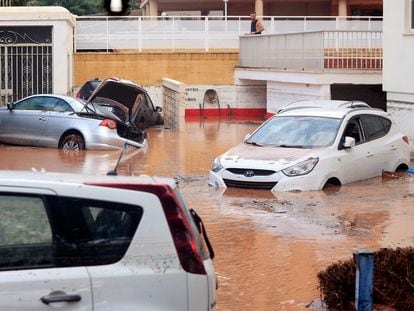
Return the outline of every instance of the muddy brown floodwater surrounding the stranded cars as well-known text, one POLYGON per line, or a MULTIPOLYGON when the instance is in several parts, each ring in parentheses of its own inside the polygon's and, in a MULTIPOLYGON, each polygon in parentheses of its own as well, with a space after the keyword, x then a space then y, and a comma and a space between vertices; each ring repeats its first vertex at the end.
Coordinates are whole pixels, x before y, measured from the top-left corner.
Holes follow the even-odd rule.
MULTIPOLYGON (((178 179, 215 248, 217 310, 317 310, 317 273, 358 249, 411 246, 414 175, 374 178, 329 191, 214 189, 212 160, 256 128, 254 122, 189 122, 186 131, 149 131, 148 150, 129 149, 120 175, 178 179)), ((0 169, 105 174, 119 151, 65 154, 0 147, 0 169)))

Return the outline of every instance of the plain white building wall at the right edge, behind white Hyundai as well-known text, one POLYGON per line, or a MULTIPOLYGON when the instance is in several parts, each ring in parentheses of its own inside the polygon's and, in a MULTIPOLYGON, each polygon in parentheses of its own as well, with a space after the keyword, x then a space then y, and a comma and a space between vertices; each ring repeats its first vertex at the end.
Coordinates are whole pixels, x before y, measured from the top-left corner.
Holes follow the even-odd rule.
POLYGON ((394 115, 414 149, 414 31, 409 0, 384 0, 383 89, 387 110, 394 115))

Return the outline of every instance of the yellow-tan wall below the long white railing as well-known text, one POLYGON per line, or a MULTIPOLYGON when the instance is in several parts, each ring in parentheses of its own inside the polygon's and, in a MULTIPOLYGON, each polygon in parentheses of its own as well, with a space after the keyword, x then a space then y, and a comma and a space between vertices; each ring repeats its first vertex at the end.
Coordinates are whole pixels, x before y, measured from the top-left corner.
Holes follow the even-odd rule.
POLYGON ((77 53, 74 86, 98 77, 120 77, 142 85, 161 85, 162 78, 185 84, 234 84, 237 51, 153 52, 153 53, 77 53))

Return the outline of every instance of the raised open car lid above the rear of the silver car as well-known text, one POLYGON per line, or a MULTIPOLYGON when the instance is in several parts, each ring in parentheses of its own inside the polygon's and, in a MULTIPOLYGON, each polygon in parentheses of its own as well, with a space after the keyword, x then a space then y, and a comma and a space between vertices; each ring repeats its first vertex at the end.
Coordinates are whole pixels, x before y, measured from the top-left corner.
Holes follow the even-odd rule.
POLYGON ((137 97, 146 91, 138 84, 123 79, 105 79, 89 97, 88 102, 101 103, 103 106, 116 105, 127 114, 124 121, 130 121, 137 109, 137 97))

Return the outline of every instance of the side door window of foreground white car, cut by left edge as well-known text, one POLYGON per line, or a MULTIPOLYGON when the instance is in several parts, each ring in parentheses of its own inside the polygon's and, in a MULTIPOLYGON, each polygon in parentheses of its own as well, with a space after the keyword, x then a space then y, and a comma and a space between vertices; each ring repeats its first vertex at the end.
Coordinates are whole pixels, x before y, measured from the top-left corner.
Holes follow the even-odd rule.
POLYGON ((0 270, 50 267, 52 254, 44 199, 0 195, 0 270))

